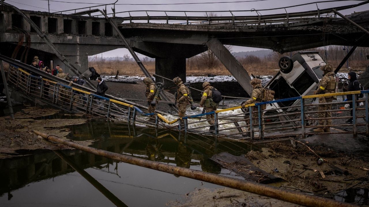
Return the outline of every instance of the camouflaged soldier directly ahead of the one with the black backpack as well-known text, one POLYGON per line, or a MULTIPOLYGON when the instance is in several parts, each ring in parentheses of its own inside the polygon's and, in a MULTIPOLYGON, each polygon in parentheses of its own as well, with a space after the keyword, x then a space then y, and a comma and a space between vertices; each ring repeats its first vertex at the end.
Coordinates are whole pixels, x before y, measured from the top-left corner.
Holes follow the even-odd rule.
MULTIPOLYGON (((182 79, 180 77, 175 77, 173 79, 174 84, 177 86, 177 103, 178 103, 178 115, 179 117, 184 117, 186 115, 186 107, 189 104, 188 94, 190 93, 189 89, 183 85, 182 79)), ((181 120, 181 124, 184 121, 181 120)))

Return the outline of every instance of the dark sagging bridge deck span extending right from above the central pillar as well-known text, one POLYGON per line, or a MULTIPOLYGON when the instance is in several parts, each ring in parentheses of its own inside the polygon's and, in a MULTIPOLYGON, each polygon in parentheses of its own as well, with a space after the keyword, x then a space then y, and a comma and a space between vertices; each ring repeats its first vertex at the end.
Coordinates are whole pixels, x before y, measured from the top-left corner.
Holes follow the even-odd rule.
MULTIPOLYGON (((369 29, 369 11, 354 13, 348 18, 369 29)), ((120 29, 126 38, 137 42, 203 45, 216 38, 224 45, 265 48, 280 53, 327 45, 369 47, 368 36, 342 18, 246 26, 131 23, 121 24, 120 29)))

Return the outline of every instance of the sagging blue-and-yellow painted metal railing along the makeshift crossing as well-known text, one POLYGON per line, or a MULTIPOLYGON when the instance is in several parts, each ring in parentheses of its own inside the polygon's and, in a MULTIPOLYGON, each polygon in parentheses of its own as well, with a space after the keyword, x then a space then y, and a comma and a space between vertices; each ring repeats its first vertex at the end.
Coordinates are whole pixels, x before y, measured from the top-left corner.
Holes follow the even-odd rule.
MULTIPOLYGON (((39 98, 45 103, 57 105, 62 109, 84 113, 86 115, 104 116, 108 119, 125 120, 132 124, 145 124, 147 126, 157 128, 179 130, 184 133, 207 134, 217 137, 240 138, 240 135, 246 132, 249 132, 250 135, 243 139, 250 140, 254 140, 255 138, 263 139, 299 135, 305 137, 306 135, 317 134, 315 132, 308 131, 309 128, 317 127, 312 123, 321 119, 316 116, 319 112, 317 110, 317 106, 332 104, 306 104, 306 99, 310 100, 311 98, 330 97, 333 95, 352 95, 353 101, 337 101, 333 102, 333 104, 338 106, 352 103, 353 115, 333 116, 331 117, 333 120, 332 124, 322 126, 332 127, 332 129, 345 127, 350 130, 331 130, 330 132, 319 134, 346 133, 353 134, 353 136, 361 134, 367 137, 369 135, 369 90, 286 98, 246 105, 245 107, 249 109, 248 112, 238 110, 241 109, 241 106, 237 106, 169 120, 168 114, 160 112, 146 113, 145 111, 147 111, 147 107, 145 106, 109 95, 107 95, 107 97, 101 97, 94 94, 94 91, 89 88, 76 84, 68 84, 70 82, 63 80, 62 78, 52 76, 51 74, 47 74, 44 71, 37 70, 35 68, 32 69, 30 66, 24 66, 27 65, 24 63, 14 65, 14 62, 13 64, 10 64, 7 76, 9 84, 21 89, 27 95, 39 98), (24 69, 21 69, 19 66, 23 66, 24 69), (364 94, 364 98, 356 101, 356 96, 358 94, 364 94), (262 110, 263 105, 279 102, 290 103, 291 101, 295 101, 293 105, 278 108, 278 110, 283 110, 285 112, 283 115, 289 115, 292 117, 292 120, 279 120, 279 117, 282 115, 280 112, 277 113, 277 109, 275 108, 262 110), (360 102, 364 103, 364 107, 357 106, 360 102), (199 120, 200 117, 206 115, 214 115, 214 119, 199 120), (232 119, 232 117, 236 116, 238 116, 238 119, 232 119), (239 119, 239 116, 243 116, 243 119, 239 119), (352 119, 353 123, 346 124, 340 122, 345 119, 352 119), (214 124, 206 124, 206 122, 214 122, 214 124), (284 126, 291 122, 297 122, 300 124, 297 126, 284 126), (215 129, 208 131, 210 126, 214 126, 215 129)), ((328 110, 327 112, 339 113, 337 115, 341 115, 349 112, 350 110, 351 109, 337 108, 328 110)))

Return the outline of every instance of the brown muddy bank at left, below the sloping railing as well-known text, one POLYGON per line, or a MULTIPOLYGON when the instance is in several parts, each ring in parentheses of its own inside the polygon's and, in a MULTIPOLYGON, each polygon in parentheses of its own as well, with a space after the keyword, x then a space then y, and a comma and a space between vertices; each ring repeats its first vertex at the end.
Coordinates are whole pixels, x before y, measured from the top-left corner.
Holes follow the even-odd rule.
MULTIPOLYGON (((40 130, 66 138, 70 133, 66 126, 85 123, 87 120, 80 115, 64 115, 61 110, 34 106, 15 112, 14 117, 15 120, 10 119, 10 116, 0 117, 0 158, 17 155, 18 150, 68 148, 44 141, 31 131, 40 130)), ((89 145, 91 141, 83 141, 81 144, 89 145)))

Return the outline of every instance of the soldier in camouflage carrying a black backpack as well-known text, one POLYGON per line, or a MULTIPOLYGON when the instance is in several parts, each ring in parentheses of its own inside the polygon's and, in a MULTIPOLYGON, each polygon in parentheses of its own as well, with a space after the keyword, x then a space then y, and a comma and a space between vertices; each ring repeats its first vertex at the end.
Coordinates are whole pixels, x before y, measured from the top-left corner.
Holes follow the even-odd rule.
MULTIPOLYGON (((201 97, 201 101, 200 101, 200 106, 203 107, 203 105, 205 105, 204 107, 206 107, 205 113, 211 112, 211 111, 215 111, 217 110, 219 103, 215 103, 213 101, 213 88, 212 86, 210 86, 209 82, 205 82, 203 83, 203 96, 201 97)), ((214 114, 208 114, 206 115, 206 119, 208 120, 208 123, 211 125, 215 124, 214 121, 214 114)), ((210 126, 209 131, 211 130, 215 130, 215 126, 210 126)))

